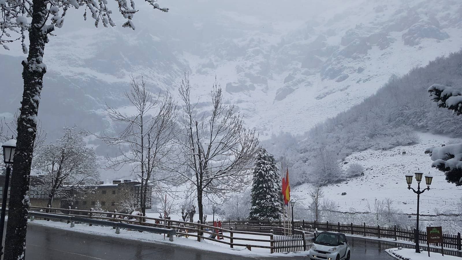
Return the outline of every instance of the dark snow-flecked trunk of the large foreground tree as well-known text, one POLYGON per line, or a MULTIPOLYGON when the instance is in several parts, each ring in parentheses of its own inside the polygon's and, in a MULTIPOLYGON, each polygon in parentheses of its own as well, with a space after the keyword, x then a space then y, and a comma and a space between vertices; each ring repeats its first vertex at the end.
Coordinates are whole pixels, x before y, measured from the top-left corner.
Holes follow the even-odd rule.
POLYGON ((29 29, 29 55, 22 62, 24 92, 21 114, 18 117, 18 141, 14 155, 9 200, 8 225, 6 227, 4 259, 24 260, 29 209, 30 163, 37 130, 37 113, 42 91, 43 74, 46 72, 43 50, 48 42, 47 34, 54 27, 41 27, 47 15, 44 0, 33 0, 32 24, 29 29), (47 30, 45 30, 47 29, 47 30))

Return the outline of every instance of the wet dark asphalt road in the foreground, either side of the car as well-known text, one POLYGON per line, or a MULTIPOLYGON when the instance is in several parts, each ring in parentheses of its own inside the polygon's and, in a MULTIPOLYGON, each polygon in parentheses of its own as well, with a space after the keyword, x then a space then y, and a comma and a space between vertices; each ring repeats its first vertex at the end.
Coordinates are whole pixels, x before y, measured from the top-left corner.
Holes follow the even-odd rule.
MULTIPOLYGON (((392 260, 379 247, 349 238, 352 260, 392 260)), ((29 224, 27 260, 259 260, 301 259, 308 257, 240 257, 152 242, 103 237, 29 224)))

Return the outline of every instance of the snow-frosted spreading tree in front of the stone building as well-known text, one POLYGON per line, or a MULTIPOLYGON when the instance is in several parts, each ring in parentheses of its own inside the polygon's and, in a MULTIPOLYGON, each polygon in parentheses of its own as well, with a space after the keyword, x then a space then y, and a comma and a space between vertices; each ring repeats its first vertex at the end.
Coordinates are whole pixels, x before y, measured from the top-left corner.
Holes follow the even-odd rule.
POLYGON ((55 197, 72 203, 94 191, 100 175, 95 151, 86 147, 85 135, 86 131, 77 130, 77 126, 65 127, 64 135, 55 143, 37 149, 33 166, 44 176, 32 189, 48 195, 49 205, 55 197))

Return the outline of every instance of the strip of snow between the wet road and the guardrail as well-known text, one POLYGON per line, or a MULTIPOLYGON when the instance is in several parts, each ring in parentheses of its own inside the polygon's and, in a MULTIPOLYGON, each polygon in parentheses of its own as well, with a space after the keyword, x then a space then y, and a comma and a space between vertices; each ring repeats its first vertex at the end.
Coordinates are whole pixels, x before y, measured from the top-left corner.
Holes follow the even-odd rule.
MULTIPOLYGON (((99 236, 110 236, 111 238, 122 238, 122 239, 131 239, 137 241, 146 241, 146 242, 153 242, 153 243, 161 243, 161 244, 168 244, 172 246, 184 247, 184 248, 195 248, 205 251, 211 252, 220 252, 225 254, 235 254, 241 256, 248 256, 248 257, 293 257, 293 256, 304 256, 308 255, 309 251, 298 252, 298 253, 274 253, 270 254, 263 253, 263 252, 254 252, 249 251, 247 249, 231 249, 231 248, 224 248, 221 246, 214 245, 209 241, 205 240, 202 242, 198 242, 192 239, 187 239, 183 237, 175 237, 174 241, 168 241, 168 238, 164 239, 164 235, 160 234, 153 234, 147 232, 138 232, 138 231, 128 231, 125 229, 120 230, 120 234, 115 233, 115 229, 111 227, 102 227, 102 226, 88 226, 86 224, 75 224, 73 228, 70 227, 70 224, 64 222, 55 222, 55 221, 44 221, 44 220, 34 220, 32 222, 28 222, 28 224, 32 225, 42 225, 56 229, 65 229, 68 231, 75 231, 85 234, 91 235, 99 235, 99 236)), ((268 249, 269 250, 269 249, 268 249)))

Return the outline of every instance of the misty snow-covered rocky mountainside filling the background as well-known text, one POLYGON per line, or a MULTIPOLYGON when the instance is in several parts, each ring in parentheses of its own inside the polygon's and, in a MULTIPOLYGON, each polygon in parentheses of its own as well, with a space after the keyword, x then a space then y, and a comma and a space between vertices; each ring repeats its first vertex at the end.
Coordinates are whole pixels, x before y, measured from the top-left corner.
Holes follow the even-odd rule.
MULTIPOLYGON (((103 108, 127 105, 123 92, 130 74, 143 74, 153 92, 176 93, 185 69, 200 102, 209 100, 217 75, 225 98, 262 139, 281 130, 301 134, 376 93, 391 75, 458 51, 462 42, 460 0, 162 5, 170 11, 137 6, 135 31, 117 19, 115 28, 94 28, 70 12, 45 49, 48 72, 39 118, 51 140, 64 125, 113 130, 103 108)), ((24 55, 19 44, 10 49, 0 51, 5 117, 12 117, 23 90, 24 55)))

